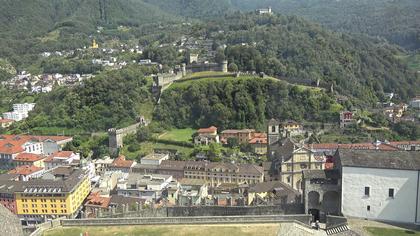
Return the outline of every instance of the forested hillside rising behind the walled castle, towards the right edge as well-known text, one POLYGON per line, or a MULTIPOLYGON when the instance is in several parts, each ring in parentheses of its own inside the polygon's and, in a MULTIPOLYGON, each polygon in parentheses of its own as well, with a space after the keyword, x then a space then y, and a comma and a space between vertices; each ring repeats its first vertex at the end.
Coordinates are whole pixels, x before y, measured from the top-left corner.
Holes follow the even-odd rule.
POLYGON ((257 71, 296 82, 333 85, 341 94, 374 104, 384 92, 409 98, 420 78, 381 41, 333 33, 298 17, 233 14, 203 25, 224 56, 241 71, 257 71))

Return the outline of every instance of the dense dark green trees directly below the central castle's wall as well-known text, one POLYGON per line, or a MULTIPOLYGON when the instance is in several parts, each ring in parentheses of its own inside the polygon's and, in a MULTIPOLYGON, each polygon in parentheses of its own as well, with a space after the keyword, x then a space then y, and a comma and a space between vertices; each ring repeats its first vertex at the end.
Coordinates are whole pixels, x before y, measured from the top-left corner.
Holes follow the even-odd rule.
POLYGON ((272 79, 217 78, 175 84, 163 93, 154 118, 178 128, 264 129, 270 118, 334 121, 339 109, 321 90, 272 79))

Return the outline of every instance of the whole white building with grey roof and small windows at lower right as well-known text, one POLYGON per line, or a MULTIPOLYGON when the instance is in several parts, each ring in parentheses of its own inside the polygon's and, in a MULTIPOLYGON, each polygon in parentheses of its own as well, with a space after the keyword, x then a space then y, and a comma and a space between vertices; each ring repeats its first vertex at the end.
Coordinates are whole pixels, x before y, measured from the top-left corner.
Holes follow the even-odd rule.
POLYGON ((420 222, 419 152, 339 149, 336 163, 344 216, 420 222))

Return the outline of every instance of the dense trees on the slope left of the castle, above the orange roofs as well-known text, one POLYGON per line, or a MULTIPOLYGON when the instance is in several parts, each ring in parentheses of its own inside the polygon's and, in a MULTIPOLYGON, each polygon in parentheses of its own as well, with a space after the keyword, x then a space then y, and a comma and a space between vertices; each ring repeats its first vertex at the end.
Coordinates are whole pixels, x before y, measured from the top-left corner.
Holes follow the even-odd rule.
POLYGON ((83 85, 61 87, 41 96, 19 129, 63 127, 87 132, 133 124, 142 103, 151 101, 150 84, 138 68, 104 72, 83 85))

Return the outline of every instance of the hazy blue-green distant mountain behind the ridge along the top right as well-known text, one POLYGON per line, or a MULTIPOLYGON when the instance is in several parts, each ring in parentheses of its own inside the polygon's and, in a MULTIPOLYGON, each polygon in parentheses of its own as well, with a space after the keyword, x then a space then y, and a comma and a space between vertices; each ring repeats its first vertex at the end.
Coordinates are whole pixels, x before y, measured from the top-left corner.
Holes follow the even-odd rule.
POLYGON ((220 17, 271 6, 284 15, 319 22, 335 31, 380 36, 407 49, 420 48, 418 0, 144 0, 171 14, 220 17))

